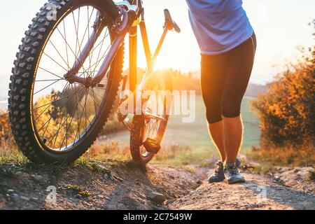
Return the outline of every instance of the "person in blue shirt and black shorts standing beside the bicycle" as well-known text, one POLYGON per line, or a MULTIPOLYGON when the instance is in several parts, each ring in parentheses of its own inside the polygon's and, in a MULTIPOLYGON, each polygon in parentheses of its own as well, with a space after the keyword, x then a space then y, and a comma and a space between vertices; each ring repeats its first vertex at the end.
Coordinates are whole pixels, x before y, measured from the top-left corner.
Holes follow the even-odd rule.
POLYGON ((244 182, 237 169, 243 138, 241 101, 255 57, 256 40, 241 0, 186 0, 201 50, 202 96, 209 134, 221 160, 209 182, 244 182))

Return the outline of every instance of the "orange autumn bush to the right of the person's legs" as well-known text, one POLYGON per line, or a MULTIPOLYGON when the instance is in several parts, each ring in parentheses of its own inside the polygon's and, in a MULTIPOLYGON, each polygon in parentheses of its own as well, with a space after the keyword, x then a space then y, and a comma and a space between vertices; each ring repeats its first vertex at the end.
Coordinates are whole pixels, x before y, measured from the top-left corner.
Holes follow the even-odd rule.
POLYGON ((255 153, 309 165, 315 162, 315 47, 301 52, 298 62, 286 64, 268 91, 252 103, 262 133, 255 153))

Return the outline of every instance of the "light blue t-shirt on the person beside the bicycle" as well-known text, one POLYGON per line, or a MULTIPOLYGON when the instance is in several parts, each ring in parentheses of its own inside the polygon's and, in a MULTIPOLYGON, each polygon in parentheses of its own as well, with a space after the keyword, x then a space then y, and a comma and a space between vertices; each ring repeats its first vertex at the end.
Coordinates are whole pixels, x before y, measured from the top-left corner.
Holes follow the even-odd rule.
POLYGON ((204 55, 228 52, 253 35, 241 0, 186 0, 190 22, 204 55))

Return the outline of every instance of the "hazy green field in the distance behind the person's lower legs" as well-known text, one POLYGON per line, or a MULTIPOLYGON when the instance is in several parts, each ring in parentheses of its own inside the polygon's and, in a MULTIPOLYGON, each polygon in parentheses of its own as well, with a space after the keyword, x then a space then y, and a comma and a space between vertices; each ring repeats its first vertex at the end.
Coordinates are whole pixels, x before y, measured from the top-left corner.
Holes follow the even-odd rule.
MULTIPOLYGON (((247 151, 251 146, 259 144, 260 130, 258 127, 258 118, 255 117, 250 109, 249 102, 253 98, 245 97, 241 106, 241 113, 244 120, 244 151, 247 151)), ((128 132, 118 132, 108 136, 109 140, 118 140, 123 144, 129 143, 128 132)), ((196 151, 207 150, 213 151, 214 146, 211 144, 207 125, 205 122, 204 103, 202 97, 196 98, 196 119, 193 123, 183 123, 181 116, 171 116, 167 132, 162 141, 162 146, 171 146, 179 144, 180 146, 190 146, 196 151)))

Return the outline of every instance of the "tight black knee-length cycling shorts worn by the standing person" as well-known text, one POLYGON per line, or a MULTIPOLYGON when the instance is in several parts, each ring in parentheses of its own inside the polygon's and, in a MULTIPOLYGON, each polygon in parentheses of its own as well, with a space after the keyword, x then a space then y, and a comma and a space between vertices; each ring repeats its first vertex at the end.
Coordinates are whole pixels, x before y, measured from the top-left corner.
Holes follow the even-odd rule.
POLYGON ((241 113, 255 58, 255 34, 237 48, 221 55, 202 55, 202 96, 209 123, 236 118, 241 113))

